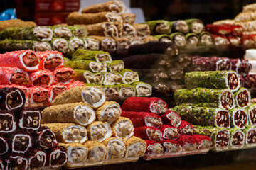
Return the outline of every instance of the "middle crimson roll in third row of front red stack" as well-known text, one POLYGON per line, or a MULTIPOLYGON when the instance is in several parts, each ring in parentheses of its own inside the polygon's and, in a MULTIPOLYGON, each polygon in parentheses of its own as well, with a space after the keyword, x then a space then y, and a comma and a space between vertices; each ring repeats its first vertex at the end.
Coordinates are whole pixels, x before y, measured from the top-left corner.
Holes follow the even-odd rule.
POLYGON ((165 140, 177 140, 178 139, 178 129, 174 126, 170 125, 162 125, 161 128, 159 128, 163 134, 163 138, 165 140))

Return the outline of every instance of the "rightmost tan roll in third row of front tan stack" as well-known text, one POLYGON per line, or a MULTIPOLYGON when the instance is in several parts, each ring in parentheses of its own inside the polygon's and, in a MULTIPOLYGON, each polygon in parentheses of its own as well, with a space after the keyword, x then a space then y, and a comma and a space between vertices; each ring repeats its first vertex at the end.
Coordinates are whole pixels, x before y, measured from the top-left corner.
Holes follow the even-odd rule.
POLYGON ((111 124, 111 127, 113 136, 119 140, 127 140, 134 135, 134 126, 129 118, 119 117, 111 124))

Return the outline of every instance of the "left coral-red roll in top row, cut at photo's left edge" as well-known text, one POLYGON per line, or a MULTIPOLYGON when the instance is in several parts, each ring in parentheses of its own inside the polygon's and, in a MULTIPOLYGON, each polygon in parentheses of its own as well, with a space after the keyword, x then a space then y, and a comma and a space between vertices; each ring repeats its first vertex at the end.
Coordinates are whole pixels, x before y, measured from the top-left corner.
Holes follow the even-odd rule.
POLYGON ((39 58, 32 50, 6 52, 0 55, 0 67, 18 67, 26 72, 38 70, 39 58))

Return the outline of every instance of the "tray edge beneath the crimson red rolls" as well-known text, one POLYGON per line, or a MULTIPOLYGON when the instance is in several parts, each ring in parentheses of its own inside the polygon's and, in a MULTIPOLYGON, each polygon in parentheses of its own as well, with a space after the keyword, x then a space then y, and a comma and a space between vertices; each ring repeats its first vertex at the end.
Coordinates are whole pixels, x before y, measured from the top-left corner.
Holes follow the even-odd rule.
POLYGON ((188 156, 188 155, 193 155, 193 154, 206 154, 207 152, 209 152, 209 149, 200 149, 200 150, 196 150, 196 151, 181 151, 181 152, 176 152, 173 154, 148 154, 145 155, 144 157, 142 157, 142 159, 149 161, 149 160, 153 160, 153 159, 165 159, 165 158, 171 158, 171 157, 183 157, 183 156, 188 156))

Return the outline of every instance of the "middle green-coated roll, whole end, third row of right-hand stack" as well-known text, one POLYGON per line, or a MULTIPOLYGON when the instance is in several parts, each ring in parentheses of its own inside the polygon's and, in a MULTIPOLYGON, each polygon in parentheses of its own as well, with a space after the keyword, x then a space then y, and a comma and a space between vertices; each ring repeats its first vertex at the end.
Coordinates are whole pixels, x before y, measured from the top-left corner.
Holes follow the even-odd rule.
POLYGON ((229 111, 231 126, 239 129, 244 129, 248 124, 248 115, 243 108, 233 108, 229 111))

